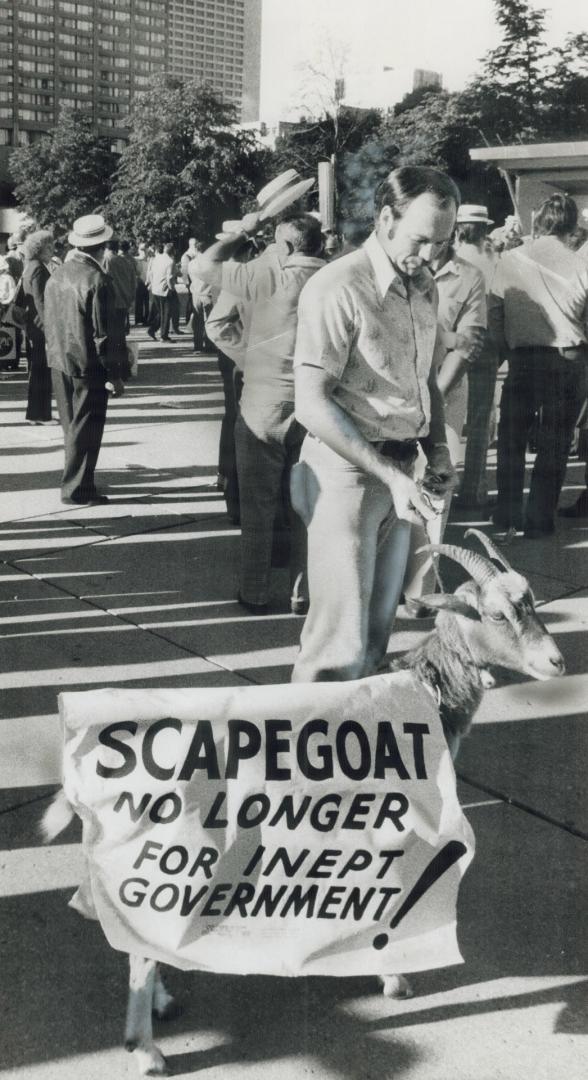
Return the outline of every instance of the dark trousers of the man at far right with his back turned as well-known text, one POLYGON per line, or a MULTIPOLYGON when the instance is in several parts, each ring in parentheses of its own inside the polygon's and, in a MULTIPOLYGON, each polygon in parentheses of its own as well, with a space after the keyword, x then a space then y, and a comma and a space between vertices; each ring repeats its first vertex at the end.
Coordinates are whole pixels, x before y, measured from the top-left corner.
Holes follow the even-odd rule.
POLYGON ((586 396, 588 350, 514 349, 500 401, 498 498, 494 519, 506 527, 523 524, 525 450, 535 414, 540 411, 537 456, 524 517, 525 528, 549 529, 565 477, 567 454, 586 396), (579 355, 578 355, 579 353, 579 355))

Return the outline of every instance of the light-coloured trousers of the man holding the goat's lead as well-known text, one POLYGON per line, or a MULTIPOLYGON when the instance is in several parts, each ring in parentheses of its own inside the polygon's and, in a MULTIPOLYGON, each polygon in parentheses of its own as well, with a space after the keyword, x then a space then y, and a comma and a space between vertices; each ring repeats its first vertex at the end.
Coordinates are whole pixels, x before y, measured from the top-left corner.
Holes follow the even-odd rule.
MULTIPOLYGON (((398 463, 409 474, 413 463, 398 463)), ((307 435, 291 477, 308 528, 310 607, 295 683, 362 678, 386 656, 409 553, 411 526, 389 489, 307 435)))

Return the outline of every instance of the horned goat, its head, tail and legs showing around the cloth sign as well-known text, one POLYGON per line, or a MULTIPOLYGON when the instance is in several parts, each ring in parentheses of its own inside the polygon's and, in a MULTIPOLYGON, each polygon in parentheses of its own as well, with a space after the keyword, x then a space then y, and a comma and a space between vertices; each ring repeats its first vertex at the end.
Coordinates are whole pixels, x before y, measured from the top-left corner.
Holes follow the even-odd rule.
MULTIPOLYGON (((535 611, 529 582, 507 563, 489 537, 468 529, 490 558, 453 544, 429 550, 458 563, 469 575, 454 594, 419 597, 438 611, 433 630, 414 649, 390 664, 409 670, 439 703, 445 738, 455 760, 462 738, 471 726, 484 691, 482 672, 497 665, 537 679, 564 674, 563 658, 535 611), (502 566, 497 569, 494 559, 502 566)), ((59 792, 43 819, 45 840, 53 839, 71 820, 72 810, 59 792)), ((403 975, 380 976, 387 997, 409 997, 403 975)), ((130 994, 125 1048, 136 1051, 144 1076, 166 1074, 165 1058, 153 1042, 152 1013, 169 1018, 177 1010, 155 960, 130 957, 130 994)))

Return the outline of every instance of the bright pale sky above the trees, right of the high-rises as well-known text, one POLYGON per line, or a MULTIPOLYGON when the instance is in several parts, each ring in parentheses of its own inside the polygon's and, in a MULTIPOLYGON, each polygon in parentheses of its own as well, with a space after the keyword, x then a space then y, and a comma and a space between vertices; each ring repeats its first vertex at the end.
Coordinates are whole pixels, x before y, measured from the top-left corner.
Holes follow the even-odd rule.
MULTIPOLYGON (((533 5, 547 9, 550 44, 588 30, 586 0, 533 5)), ((346 103, 385 107, 412 89, 417 67, 441 71, 443 85, 459 90, 499 30, 492 0, 263 0, 263 120, 304 111, 303 68, 321 62, 326 41, 347 57, 346 103)))

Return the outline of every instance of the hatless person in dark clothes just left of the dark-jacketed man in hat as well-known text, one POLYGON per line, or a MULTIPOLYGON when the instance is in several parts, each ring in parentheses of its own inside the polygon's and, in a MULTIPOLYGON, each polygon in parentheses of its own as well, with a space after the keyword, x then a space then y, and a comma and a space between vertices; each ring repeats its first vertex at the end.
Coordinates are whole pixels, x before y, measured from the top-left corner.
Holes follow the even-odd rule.
POLYGON ((46 229, 25 238, 23 298, 28 356, 28 423, 51 423, 51 372, 46 363, 44 293, 50 279, 48 264, 53 255, 53 235, 46 229))

